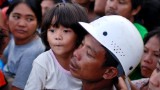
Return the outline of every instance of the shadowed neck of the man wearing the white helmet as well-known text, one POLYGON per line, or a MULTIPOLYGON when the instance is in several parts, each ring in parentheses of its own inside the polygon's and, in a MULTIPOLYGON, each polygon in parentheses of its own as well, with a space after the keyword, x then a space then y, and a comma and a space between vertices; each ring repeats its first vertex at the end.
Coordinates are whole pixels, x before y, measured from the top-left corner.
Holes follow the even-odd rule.
POLYGON ((113 90, 112 80, 100 80, 96 82, 82 81, 82 90, 113 90))

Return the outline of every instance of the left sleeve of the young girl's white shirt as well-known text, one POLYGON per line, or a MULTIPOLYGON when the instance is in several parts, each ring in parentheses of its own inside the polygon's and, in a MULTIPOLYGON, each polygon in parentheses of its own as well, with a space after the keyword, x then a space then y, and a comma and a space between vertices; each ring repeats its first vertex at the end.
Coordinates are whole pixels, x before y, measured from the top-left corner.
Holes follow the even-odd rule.
POLYGON ((33 63, 32 71, 29 75, 25 90, 42 90, 45 87, 46 71, 38 63, 33 63))

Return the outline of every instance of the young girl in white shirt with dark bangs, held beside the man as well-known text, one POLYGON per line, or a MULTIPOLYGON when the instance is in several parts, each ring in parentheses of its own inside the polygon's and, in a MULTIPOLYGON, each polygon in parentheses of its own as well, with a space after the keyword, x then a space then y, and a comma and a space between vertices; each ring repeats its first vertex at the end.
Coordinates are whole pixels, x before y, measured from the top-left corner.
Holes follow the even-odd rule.
POLYGON ((26 90, 81 89, 81 81, 69 72, 72 53, 86 33, 81 29, 71 29, 78 21, 88 22, 85 10, 78 4, 59 3, 47 12, 42 25, 42 39, 50 50, 34 60, 26 90))

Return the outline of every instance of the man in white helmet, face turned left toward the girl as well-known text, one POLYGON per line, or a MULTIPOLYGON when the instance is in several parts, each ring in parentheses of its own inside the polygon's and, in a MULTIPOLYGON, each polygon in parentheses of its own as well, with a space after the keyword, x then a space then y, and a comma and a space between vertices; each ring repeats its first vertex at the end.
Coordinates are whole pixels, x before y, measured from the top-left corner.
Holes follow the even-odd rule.
POLYGON ((127 19, 104 16, 76 28, 87 34, 73 53, 70 72, 83 82, 83 90, 112 90, 118 76, 128 75, 140 62, 142 38, 127 19))

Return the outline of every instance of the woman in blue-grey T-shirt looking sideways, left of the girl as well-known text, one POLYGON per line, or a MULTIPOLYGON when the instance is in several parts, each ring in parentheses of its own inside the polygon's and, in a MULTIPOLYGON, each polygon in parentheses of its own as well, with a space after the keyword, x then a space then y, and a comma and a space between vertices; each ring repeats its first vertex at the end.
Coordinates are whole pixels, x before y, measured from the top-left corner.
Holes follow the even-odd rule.
MULTIPOLYGON (((41 24, 41 6, 37 0, 13 0, 7 10, 11 39, 3 53, 7 60, 4 74, 12 89, 24 89, 33 60, 45 51, 37 34, 41 24)), ((4 59, 3 59, 4 60, 4 59)))

